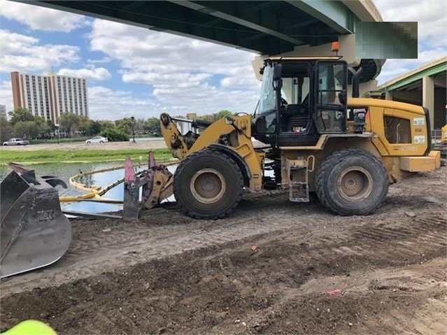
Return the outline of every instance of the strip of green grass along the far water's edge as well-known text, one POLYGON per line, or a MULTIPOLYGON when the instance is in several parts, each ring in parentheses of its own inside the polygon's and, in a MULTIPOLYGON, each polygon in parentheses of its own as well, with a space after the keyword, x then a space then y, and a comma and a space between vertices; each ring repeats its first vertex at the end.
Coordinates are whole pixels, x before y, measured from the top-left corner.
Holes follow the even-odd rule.
POLYGON ((90 163, 90 162, 123 162, 126 156, 136 162, 145 162, 148 151, 154 152, 157 162, 168 162, 173 157, 167 148, 159 149, 119 149, 99 150, 2 150, 0 164, 8 162, 19 164, 45 164, 45 163, 90 163))

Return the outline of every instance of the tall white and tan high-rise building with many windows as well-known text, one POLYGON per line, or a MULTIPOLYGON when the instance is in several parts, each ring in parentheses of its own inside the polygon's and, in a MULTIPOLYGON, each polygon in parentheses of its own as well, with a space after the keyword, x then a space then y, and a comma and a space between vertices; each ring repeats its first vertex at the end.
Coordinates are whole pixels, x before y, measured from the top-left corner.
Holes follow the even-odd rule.
POLYGON ((14 108, 27 108, 33 115, 57 123, 57 117, 74 113, 88 117, 87 85, 83 78, 37 76, 11 72, 14 108))

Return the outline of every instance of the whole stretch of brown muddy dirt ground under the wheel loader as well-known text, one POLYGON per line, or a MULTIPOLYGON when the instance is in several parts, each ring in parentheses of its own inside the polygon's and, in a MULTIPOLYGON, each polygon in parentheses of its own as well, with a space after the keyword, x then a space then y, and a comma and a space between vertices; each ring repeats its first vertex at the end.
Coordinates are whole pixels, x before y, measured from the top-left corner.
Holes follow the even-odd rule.
POLYGON ((1 329, 60 334, 446 334, 447 169, 392 185, 374 215, 248 195, 225 220, 176 204, 138 224, 73 220, 69 252, 1 280, 1 329))

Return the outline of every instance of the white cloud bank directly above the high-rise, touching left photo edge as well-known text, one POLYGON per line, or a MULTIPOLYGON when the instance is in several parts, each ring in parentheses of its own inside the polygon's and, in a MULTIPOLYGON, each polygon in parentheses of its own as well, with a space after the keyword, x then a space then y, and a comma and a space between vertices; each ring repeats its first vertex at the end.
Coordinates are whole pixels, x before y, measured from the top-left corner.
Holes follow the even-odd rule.
POLYGON ((39 44, 37 38, 0 29, 0 71, 45 71, 52 66, 76 62, 74 45, 39 44))

